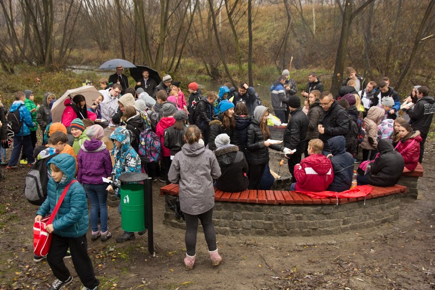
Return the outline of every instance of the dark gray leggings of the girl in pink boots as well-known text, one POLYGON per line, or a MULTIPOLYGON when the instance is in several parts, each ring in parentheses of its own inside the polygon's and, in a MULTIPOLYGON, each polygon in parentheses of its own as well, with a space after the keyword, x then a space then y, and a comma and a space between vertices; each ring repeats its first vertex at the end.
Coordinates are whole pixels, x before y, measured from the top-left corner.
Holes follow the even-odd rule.
POLYGON ((189 256, 195 256, 198 234, 198 219, 201 221, 204 230, 205 240, 209 251, 218 249, 216 246, 216 232, 213 226, 213 208, 201 214, 188 214, 184 212, 186 219, 186 234, 184 241, 186 243, 186 252, 189 256))

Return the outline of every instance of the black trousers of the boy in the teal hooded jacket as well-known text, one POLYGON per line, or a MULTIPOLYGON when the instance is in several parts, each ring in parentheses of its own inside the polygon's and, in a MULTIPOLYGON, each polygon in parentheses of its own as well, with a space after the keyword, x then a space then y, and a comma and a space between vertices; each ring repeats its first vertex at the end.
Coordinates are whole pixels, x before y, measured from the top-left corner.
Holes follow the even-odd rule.
POLYGON ((65 281, 70 276, 69 270, 63 262, 63 257, 65 257, 68 248, 71 252, 72 264, 82 284, 90 289, 98 286, 100 281, 95 277, 92 261, 88 255, 86 235, 64 237, 53 234, 52 244, 47 254, 47 262, 53 271, 53 275, 60 281, 65 281))

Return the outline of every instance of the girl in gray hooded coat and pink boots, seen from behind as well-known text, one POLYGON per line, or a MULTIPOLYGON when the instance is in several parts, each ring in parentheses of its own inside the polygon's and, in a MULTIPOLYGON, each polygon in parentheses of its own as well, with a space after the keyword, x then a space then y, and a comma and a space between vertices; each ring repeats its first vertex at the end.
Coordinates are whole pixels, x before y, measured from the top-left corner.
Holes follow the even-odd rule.
POLYGON ((198 219, 204 230, 211 264, 216 266, 222 261, 216 246, 216 233, 213 226, 214 189, 213 179, 221 176, 221 169, 214 153, 198 143, 201 131, 195 125, 187 127, 181 151, 172 160, 168 179, 179 183, 181 211, 186 220, 186 270, 194 268, 197 244, 198 219))

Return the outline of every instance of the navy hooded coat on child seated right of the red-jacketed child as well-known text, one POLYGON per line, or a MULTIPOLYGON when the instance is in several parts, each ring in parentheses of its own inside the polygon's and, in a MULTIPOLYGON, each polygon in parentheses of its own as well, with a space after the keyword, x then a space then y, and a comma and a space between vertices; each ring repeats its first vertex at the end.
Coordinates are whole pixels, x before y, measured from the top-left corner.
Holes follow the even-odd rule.
POLYGON ((334 170, 334 180, 327 190, 342 192, 350 189, 353 178, 353 156, 346 152, 346 139, 343 136, 335 136, 328 140, 331 150, 331 163, 334 170))

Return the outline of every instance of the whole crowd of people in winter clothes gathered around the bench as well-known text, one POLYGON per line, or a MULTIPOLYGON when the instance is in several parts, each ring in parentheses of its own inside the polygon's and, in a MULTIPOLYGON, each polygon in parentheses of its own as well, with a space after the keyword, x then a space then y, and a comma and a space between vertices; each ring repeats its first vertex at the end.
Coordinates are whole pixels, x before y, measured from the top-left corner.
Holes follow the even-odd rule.
MULTIPOLYGON (((32 91, 15 92, 9 110, 3 104, 0 108, 4 145, 0 158, 8 170, 16 168, 18 162, 28 166, 40 160, 47 162, 47 174, 52 177, 48 198, 35 220, 53 209, 56 196, 71 180, 79 182, 68 189, 62 210, 49 225, 56 237, 47 255, 57 278, 52 289, 72 280, 62 262, 68 248, 76 269, 83 269, 78 274, 85 288, 98 287, 87 252, 80 246, 84 243, 86 248, 89 223, 88 207, 83 205, 87 197, 91 240, 107 241, 112 236, 107 196, 119 196, 119 176, 123 173, 143 172, 153 181, 180 184, 175 203, 181 212, 178 218, 186 222, 186 269, 195 264, 198 220, 212 264, 219 265, 222 260, 212 222, 213 186, 227 192, 270 189, 274 178, 269 170, 269 149, 285 155, 292 175, 290 190, 348 190, 358 161, 368 161, 357 176, 359 185, 397 183, 403 172, 413 171, 422 162, 434 99, 426 86, 415 86, 401 104, 388 78, 378 85, 367 82, 352 67, 346 74, 348 79, 334 96, 324 91, 320 78, 310 72, 302 91, 305 102, 301 102, 296 82, 284 70, 270 88, 272 108, 267 108, 246 83, 237 88, 225 83, 218 92, 203 95, 198 84, 191 82, 186 98, 180 82, 164 75, 157 84, 148 69, 143 70, 135 88, 129 87, 122 66, 118 66, 109 80, 99 81, 101 95, 89 108, 81 94, 66 99, 60 123, 52 122, 53 93, 46 92, 42 104, 36 106, 32 91), (286 123, 282 143, 271 139, 268 119, 272 112, 286 123), (8 143, 7 114, 19 119, 9 161, 4 149, 8 143), (108 136, 113 142, 111 151, 102 141, 105 131, 98 123, 102 120, 115 127, 108 136), (42 146, 36 147, 38 126, 43 140, 42 146), (362 160, 357 161, 359 150, 362 160)), ((167 202, 170 205, 173 201, 167 202)), ((121 213, 120 208, 118 211, 121 213)), ((138 232, 144 233, 146 229, 138 232)), ((125 231, 116 241, 133 238, 134 232, 125 231)), ((43 258, 35 256, 35 261, 43 258)))

